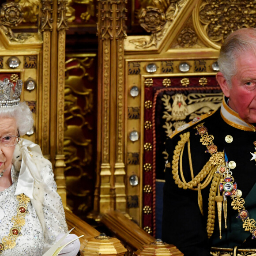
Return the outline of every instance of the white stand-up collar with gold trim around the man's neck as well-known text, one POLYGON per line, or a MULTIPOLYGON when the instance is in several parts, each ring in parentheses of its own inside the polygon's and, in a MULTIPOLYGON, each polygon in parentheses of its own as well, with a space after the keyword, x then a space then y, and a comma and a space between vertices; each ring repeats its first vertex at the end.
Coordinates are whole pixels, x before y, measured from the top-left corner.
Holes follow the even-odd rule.
POLYGON ((222 105, 220 110, 222 119, 231 126, 243 130, 243 131, 252 131, 255 132, 256 128, 252 124, 246 123, 241 117, 239 117, 238 113, 227 105, 226 98, 223 96, 222 105))

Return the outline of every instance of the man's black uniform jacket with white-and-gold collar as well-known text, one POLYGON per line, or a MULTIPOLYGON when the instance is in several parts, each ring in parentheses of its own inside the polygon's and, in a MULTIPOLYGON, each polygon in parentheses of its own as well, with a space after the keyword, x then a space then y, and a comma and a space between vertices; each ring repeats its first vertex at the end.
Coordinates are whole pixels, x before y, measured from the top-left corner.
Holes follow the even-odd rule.
MULTIPOLYGON (((243 228, 241 218, 237 218, 239 211, 234 210, 231 206, 232 198, 230 196, 226 196, 227 227, 225 228, 224 225, 222 211, 222 238, 219 238, 217 207, 215 207, 215 220, 214 217, 210 220, 208 218, 209 192, 212 181, 205 188, 200 189, 201 209, 198 189, 179 188, 177 182, 174 181, 174 151, 181 141, 181 136, 185 133, 189 136, 189 141, 183 148, 182 157, 179 158, 178 175, 181 181, 191 181, 200 173, 211 157, 211 154, 207 152, 207 147, 200 141, 200 134, 196 134, 198 133, 196 126, 199 124, 207 128, 209 136, 214 136, 213 143, 218 147, 218 152, 225 152, 226 164, 233 163, 233 169, 230 171, 232 171, 232 177, 237 184, 237 190, 242 192, 241 197, 245 200, 244 207, 248 211, 248 218, 252 220, 251 231, 255 226, 253 225, 253 220, 256 220, 255 127, 242 120, 236 112, 229 108, 226 99, 223 98, 221 108, 215 113, 208 113, 204 117, 193 120, 185 125, 184 130, 180 128, 180 131, 176 131, 174 136, 170 136, 166 141, 166 151, 169 156, 165 172, 162 240, 176 245, 185 256, 209 256, 212 247, 231 248, 230 250, 232 248, 256 248, 256 239, 252 239, 251 231, 245 231, 243 228), (207 219, 208 222, 215 223, 212 224, 214 231, 210 237, 207 234, 207 219)), ((203 181, 200 182, 200 186, 203 181)), ((198 184, 195 187, 198 188, 198 184)), ((221 195, 223 192, 225 191, 222 190, 221 195)))

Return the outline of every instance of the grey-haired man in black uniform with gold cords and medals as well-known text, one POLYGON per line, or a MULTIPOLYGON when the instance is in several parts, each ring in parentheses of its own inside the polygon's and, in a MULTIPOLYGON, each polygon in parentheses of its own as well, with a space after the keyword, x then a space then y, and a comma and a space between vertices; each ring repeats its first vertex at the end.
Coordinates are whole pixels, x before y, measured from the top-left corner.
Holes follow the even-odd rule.
POLYGON ((256 255, 256 28, 230 34, 218 65, 221 108, 166 141, 162 240, 185 256, 256 255))

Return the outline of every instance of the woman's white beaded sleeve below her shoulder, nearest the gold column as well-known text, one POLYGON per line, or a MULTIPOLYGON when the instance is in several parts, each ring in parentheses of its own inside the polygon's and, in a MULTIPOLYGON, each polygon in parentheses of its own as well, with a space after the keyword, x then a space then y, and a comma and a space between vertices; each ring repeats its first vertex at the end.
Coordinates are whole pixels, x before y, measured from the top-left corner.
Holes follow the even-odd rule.
MULTIPOLYGON (((46 161, 48 162, 48 160, 46 161)), ((45 187, 43 203, 43 214, 45 219, 44 253, 54 244, 58 234, 68 232, 68 226, 65 220, 62 201, 57 193, 57 185, 54 181, 53 169, 50 162, 42 168, 41 177, 45 187)))

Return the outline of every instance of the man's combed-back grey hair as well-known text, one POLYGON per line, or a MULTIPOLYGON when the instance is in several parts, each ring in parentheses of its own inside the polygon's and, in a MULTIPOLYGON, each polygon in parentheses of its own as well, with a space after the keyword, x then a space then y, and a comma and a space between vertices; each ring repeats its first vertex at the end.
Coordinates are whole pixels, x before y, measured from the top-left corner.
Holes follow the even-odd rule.
POLYGON ((237 72, 237 58, 250 51, 256 55, 256 28, 234 31, 224 41, 218 57, 219 71, 231 87, 231 79, 237 72))

